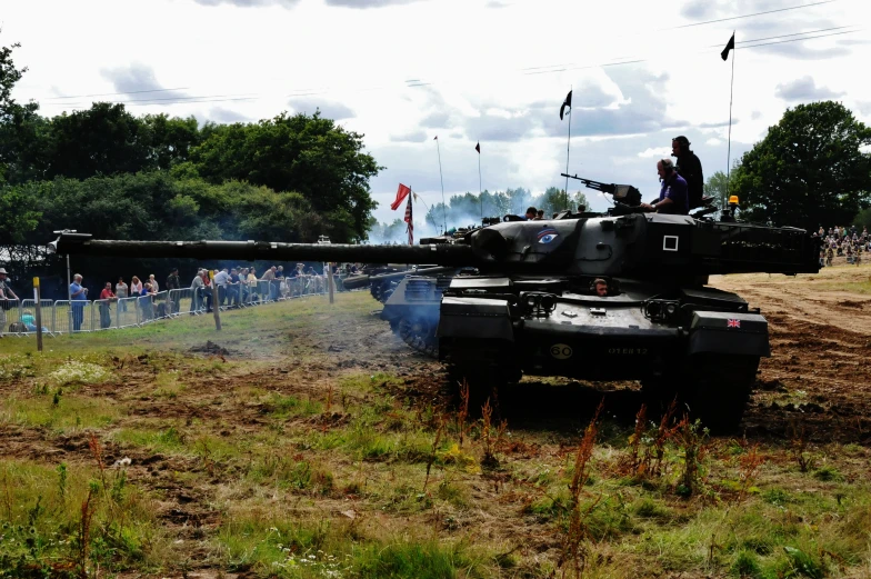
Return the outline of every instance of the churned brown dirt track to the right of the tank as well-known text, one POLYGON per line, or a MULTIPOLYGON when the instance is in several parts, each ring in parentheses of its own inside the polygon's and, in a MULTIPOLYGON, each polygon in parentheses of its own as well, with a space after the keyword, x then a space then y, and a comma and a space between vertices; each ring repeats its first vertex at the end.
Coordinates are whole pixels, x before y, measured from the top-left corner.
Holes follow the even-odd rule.
POLYGON ((711 279, 762 310, 772 356, 763 359, 745 416, 750 432, 811 440, 871 441, 871 266, 814 276, 711 279))

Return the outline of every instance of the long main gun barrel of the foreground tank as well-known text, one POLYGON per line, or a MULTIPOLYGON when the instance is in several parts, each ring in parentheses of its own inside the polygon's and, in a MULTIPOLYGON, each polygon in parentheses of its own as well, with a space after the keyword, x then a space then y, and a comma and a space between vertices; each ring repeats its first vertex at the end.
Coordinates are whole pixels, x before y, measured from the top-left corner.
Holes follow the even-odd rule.
POLYGON ((469 246, 351 246, 340 243, 280 243, 267 241, 121 241, 97 240, 88 234, 66 233, 49 243, 59 254, 117 258, 192 258, 272 261, 362 261, 368 263, 433 263, 473 266, 478 260, 469 246))

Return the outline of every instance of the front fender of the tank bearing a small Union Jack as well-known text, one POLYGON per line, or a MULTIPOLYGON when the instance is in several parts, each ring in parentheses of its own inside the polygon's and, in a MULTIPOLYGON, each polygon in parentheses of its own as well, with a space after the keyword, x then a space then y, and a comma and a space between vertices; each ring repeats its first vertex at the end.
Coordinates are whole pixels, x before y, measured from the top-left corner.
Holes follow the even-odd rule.
POLYGON ((771 356, 768 321, 759 313, 695 311, 687 353, 771 356))

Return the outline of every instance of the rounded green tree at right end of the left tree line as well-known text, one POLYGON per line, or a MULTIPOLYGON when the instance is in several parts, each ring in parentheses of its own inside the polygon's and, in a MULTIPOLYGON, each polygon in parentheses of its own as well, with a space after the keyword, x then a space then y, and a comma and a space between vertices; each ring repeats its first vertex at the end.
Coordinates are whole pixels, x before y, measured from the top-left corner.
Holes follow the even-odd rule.
POLYGON ((334 241, 364 238, 376 208, 369 179, 383 168, 363 152, 362 134, 318 112, 281 113, 258 123, 210 127, 203 133, 191 159, 208 181, 249 181, 299 192, 327 221, 339 226, 334 241))

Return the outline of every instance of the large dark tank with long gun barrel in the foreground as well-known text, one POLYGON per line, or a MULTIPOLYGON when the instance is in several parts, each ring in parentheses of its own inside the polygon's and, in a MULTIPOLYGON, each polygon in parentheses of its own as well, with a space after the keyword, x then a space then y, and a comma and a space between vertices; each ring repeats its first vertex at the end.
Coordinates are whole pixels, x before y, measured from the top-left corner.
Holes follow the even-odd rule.
POLYGON ((522 376, 639 380, 650 405, 677 397, 712 430, 735 427, 760 359, 771 353, 768 322, 739 296, 709 287, 708 278, 814 273, 819 241, 801 229, 735 222, 730 210, 720 219, 710 217, 710 208, 694 216, 642 213, 633 207, 637 189, 599 190, 618 201, 608 213, 567 211, 543 221, 505 216, 452 243, 108 241, 64 234, 50 250, 475 268, 478 274, 451 277, 441 288, 431 278, 424 288, 410 277, 401 292, 410 310, 438 302, 438 357, 452 377, 468 380, 472 397, 483 400, 492 388, 522 376))

